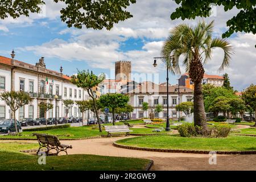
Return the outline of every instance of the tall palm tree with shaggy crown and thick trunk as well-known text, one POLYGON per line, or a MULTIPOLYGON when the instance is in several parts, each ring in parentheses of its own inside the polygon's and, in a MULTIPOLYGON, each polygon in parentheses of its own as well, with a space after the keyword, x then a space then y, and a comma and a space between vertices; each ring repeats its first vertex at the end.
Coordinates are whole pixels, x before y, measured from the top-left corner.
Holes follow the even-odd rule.
POLYGON ((195 84, 194 125, 201 126, 203 130, 207 130, 201 85, 204 77, 204 64, 211 59, 213 48, 222 48, 224 59, 219 68, 219 71, 222 71, 224 67, 229 66, 233 53, 233 47, 225 39, 212 38, 213 24, 214 22, 212 21, 209 24, 200 22, 195 27, 187 24, 175 26, 164 42, 161 52, 167 65, 172 63, 170 71, 174 74, 180 74, 179 58, 184 56, 183 66, 195 84))

